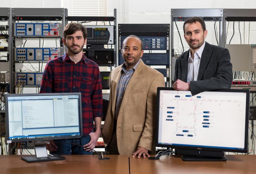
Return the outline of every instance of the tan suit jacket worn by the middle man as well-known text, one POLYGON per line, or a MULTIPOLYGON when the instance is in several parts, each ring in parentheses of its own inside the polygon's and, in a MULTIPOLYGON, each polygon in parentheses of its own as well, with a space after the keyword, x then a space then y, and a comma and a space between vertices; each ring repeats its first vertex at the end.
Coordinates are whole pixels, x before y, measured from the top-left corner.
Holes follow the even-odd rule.
MULTIPOLYGON (((102 130, 108 145, 115 120, 117 84, 121 66, 110 73, 110 98, 102 130)), ((131 154, 138 146, 154 150, 157 87, 164 87, 164 76, 141 60, 126 88, 117 119, 117 146, 119 154, 131 154)))

